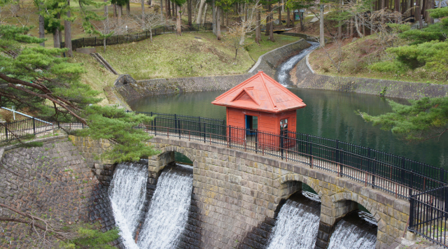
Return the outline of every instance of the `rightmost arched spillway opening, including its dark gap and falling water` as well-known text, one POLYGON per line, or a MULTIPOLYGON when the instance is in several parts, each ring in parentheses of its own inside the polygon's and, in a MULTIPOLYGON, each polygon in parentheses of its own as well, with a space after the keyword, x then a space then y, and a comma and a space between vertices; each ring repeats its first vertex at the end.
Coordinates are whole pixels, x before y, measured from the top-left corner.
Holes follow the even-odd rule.
POLYGON ((377 242, 377 221, 360 204, 339 220, 330 237, 328 249, 373 249, 377 242))

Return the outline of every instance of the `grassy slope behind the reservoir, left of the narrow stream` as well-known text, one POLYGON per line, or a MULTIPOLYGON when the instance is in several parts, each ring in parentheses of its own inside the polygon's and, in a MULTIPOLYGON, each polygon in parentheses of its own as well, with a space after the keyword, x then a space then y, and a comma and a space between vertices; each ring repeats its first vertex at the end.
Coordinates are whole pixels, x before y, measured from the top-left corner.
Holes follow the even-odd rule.
MULTIPOLYGON (((249 52, 235 50, 223 41, 216 41, 211 32, 164 34, 138 43, 111 45, 99 51, 118 73, 129 73, 137 80, 216 76, 246 73, 260 55, 282 45, 298 41, 292 36, 276 35, 276 42, 262 41, 248 46, 249 52)), ((263 37, 266 40, 265 37, 263 37)))

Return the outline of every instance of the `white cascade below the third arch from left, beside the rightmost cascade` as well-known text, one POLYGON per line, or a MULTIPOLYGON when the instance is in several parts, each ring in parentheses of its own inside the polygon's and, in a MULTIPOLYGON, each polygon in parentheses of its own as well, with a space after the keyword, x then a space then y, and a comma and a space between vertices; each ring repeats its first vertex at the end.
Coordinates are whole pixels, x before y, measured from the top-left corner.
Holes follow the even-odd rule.
POLYGON ((268 249, 314 248, 319 219, 316 208, 286 201, 275 222, 268 249))

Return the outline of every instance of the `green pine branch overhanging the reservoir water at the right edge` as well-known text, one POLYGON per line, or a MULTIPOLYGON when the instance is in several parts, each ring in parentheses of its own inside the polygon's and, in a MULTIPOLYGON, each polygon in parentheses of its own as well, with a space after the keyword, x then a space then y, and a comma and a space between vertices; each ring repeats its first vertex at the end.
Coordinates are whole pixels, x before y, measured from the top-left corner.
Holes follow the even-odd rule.
POLYGON ((448 131, 448 97, 422 98, 409 100, 410 105, 398 104, 388 100, 391 113, 372 116, 359 115, 372 125, 381 125, 381 129, 391 130, 407 141, 421 141, 440 138, 448 131))

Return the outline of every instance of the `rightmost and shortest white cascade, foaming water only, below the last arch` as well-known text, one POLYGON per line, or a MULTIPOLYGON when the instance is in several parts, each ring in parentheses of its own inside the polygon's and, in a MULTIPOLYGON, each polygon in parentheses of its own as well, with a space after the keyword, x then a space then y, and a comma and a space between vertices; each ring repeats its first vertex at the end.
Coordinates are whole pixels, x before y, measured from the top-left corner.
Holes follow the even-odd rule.
POLYGON ((330 238, 328 249, 373 249, 377 236, 366 229, 341 220, 330 238))

